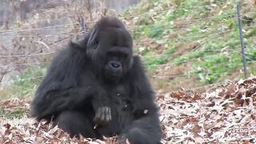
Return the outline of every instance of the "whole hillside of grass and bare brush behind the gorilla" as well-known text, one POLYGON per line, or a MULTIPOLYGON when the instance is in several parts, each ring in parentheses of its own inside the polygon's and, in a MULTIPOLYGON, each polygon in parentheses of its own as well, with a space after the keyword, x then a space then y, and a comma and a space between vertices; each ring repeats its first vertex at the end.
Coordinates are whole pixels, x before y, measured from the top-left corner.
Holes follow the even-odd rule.
POLYGON ((154 90, 206 89, 244 78, 244 67, 255 74, 255 0, 2 0, 0 98, 32 98, 54 53, 106 15, 130 30, 154 90))

